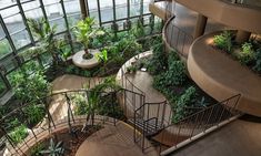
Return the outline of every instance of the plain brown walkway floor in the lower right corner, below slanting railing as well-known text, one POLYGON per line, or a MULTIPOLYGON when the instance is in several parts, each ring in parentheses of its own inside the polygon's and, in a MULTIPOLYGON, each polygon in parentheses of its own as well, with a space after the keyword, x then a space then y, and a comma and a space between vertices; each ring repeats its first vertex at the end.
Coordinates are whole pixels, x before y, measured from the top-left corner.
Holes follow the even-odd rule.
POLYGON ((171 156, 260 156, 261 119, 238 119, 171 156))

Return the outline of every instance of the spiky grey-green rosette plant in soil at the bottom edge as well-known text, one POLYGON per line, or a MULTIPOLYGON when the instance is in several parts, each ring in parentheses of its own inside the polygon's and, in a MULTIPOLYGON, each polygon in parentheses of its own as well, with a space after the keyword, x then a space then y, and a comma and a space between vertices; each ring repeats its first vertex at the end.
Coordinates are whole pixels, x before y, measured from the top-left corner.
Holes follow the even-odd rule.
POLYGON ((41 154, 47 154, 49 156, 62 156, 64 154, 63 143, 54 143, 53 139, 50 139, 48 149, 41 150, 41 154))

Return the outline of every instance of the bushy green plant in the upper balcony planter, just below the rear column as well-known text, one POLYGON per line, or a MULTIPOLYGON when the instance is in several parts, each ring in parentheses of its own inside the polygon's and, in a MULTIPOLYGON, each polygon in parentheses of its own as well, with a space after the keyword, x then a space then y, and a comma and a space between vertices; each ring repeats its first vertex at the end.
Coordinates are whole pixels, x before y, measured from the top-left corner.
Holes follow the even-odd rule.
POLYGON ((254 52, 251 43, 243 43, 242 51, 237 55, 242 64, 249 64, 254 60, 254 52))

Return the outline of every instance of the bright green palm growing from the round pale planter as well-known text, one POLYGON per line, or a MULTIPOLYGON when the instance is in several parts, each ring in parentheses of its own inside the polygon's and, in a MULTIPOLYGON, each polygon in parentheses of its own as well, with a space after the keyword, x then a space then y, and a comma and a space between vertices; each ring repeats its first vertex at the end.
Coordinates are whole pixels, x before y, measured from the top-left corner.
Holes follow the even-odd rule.
POLYGON ((74 29, 74 35, 77 41, 83 45, 84 54, 83 59, 90 60, 93 58, 93 54, 89 52, 90 42, 98 35, 103 35, 104 32, 99 28, 94 28, 94 19, 86 18, 77 23, 74 29))

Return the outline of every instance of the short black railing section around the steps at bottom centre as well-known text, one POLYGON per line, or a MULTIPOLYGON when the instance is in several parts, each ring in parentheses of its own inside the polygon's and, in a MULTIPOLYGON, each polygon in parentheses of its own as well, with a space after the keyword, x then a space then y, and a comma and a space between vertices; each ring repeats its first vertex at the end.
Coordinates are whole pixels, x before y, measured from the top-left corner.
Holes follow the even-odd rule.
POLYGON ((171 122, 172 111, 167 101, 160 103, 144 103, 134 111, 134 118, 131 121, 134 127, 134 142, 142 152, 152 147, 147 138, 158 134, 171 122), (139 132, 139 133, 137 133, 139 132))

